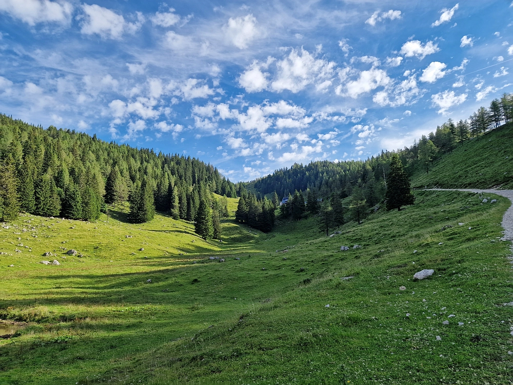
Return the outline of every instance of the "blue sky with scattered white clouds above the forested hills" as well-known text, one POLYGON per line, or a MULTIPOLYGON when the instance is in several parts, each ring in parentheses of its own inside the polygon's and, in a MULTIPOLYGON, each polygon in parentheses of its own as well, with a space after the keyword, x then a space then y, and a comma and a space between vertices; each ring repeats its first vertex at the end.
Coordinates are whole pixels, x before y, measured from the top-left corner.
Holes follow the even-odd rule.
POLYGON ((512 92, 513 3, 0 0, 0 57, 0 112, 251 180, 512 92))

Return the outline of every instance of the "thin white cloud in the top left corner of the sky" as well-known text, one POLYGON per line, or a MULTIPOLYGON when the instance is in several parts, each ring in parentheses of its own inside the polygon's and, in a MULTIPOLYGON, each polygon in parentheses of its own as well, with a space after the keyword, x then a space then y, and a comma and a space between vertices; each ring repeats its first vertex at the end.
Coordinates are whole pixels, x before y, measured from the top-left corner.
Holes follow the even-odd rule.
POLYGON ((0 12, 5 12, 30 26, 37 23, 69 23, 73 6, 49 0, 1 0, 0 12))

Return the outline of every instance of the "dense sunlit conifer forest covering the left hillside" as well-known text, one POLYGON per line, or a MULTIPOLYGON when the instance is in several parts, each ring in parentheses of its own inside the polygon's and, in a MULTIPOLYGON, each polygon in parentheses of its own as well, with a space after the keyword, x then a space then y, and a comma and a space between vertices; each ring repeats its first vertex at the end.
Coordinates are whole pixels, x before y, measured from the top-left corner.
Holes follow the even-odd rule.
MULTIPOLYGON (((132 222, 154 209, 192 221, 211 193, 236 197, 235 185, 210 164, 98 140, 85 133, 43 129, 0 114, 0 219, 18 210, 95 220, 105 203, 130 202, 132 222)), ((223 211, 223 210, 221 210, 223 211)))

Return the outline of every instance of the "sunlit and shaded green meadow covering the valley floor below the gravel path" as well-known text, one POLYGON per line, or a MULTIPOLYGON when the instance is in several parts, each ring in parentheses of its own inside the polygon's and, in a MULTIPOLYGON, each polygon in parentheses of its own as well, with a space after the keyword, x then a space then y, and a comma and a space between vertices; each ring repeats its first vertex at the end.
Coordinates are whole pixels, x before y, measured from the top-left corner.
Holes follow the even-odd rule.
POLYGON ((144 225, 21 217, 0 232, 0 251, 13 254, 0 255, 0 313, 28 326, 0 340, 0 383, 510 384, 513 312, 502 304, 513 284, 498 239, 509 201, 416 196, 332 238, 315 219, 271 234, 225 220, 220 243, 163 215, 144 225), (24 233, 30 218, 36 232, 24 233), (59 247, 84 258, 37 263, 59 247), (435 275, 413 281, 423 268, 435 275))

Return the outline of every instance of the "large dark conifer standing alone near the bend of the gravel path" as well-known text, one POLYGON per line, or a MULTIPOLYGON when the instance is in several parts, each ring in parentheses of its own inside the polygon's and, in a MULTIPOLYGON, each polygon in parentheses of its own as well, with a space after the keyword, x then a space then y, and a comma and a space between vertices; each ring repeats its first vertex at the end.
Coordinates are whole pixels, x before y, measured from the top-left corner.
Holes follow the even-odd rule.
POLYGON ((401 206, 413 204, 415 197, 411 193, 410 181, 399 156, 394 153, 390 162, 390 172, 387 177, 387 190, 385 193, 386 209, 392 210, 401 206))

